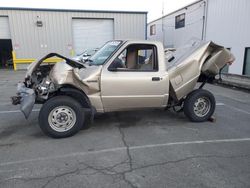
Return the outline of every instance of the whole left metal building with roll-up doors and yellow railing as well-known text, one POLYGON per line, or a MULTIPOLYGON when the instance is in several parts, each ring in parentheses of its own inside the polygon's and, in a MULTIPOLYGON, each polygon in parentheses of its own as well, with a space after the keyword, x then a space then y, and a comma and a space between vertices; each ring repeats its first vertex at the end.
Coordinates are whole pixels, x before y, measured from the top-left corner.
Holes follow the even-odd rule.
MULTIPOLYGON (((113 39, 145 39, 147 12, 0 7, 0 69, 57 52, 74 56, 113 39)), ((61 59, 50 59, 56 62, 61 59)))

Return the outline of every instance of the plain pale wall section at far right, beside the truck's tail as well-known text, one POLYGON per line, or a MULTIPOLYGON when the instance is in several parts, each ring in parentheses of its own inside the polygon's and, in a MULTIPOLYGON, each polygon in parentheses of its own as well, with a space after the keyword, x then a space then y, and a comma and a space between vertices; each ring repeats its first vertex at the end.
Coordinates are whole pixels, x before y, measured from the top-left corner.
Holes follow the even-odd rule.
POLYGON ((206 39, 231 48, 236 61, 230 73, 242 74, 245 48, 250 47, 249 19, 249 0, 208 0, 206 39))

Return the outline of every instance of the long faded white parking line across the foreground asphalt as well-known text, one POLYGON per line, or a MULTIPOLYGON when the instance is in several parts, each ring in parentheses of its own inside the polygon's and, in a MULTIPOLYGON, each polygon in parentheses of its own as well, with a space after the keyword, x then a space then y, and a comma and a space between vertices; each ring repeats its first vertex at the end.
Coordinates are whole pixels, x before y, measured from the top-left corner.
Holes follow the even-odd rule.
MULTIPOLYGON (((195 144, 211 144, 211 143, 212 144, 221 144, 221 143, 237 143, 237 142, 250 142, 250 138, 169 142, 169 143, 162 143, 162 144, 130 146, 129 150, 141 150, 141 149, 149 149, 149 148, 195 145, 195 144)), ((0 163, 0 166, 17 165, 17 164, 24 164, 24 163, 30 163, 30 162, 63 159, 63 158, 69 158, 69 157, 79 157, 79 156, 84 156, 84 155, 94 155, 94 154, 102 154, 102 153, 108 153, 108 152, 120 152, 120 151, 126 151, 126 150, 127 150, 126 147, 116 147, 116 148, 102 149, 102 150, 96 150, 96 151, 76 152, 76 153, 70 153, 70 154, 65 154, 65 155, 39 157, 39 158, 19 160, 19 161, 9 161, 9 162, 0 163)))

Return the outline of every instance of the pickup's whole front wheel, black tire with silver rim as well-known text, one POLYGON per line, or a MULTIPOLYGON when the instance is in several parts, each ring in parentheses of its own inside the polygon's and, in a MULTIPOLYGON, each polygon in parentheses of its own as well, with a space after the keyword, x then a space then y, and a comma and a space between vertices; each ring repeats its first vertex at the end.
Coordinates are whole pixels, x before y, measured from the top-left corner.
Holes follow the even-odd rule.
POLYGON ((82 106, 69 96, 56 96, 49 99, 43 104, 39 113, 40 128, 46 135, 52 138, 73 136, 82 128, 84 120, 85 114, 82 106), (63 123, 65 123, 66 120, 65 124, 69 124, 65 130, 62 130, 64 128, 58 124, 58 122, 61 121, 61 116, 65 118, 63 123))

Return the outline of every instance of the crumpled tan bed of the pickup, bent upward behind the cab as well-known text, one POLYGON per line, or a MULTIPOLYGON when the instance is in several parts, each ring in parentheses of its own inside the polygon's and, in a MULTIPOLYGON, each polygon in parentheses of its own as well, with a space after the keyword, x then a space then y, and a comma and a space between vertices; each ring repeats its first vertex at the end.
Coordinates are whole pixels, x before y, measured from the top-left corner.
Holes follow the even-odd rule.
POLYGON ((193 90, 201 75, 213 77, 232 61, 234 57, 229 50, 211 41, 192 41, 174 52, 166 51, 171 97, 180 100, 193 90))

